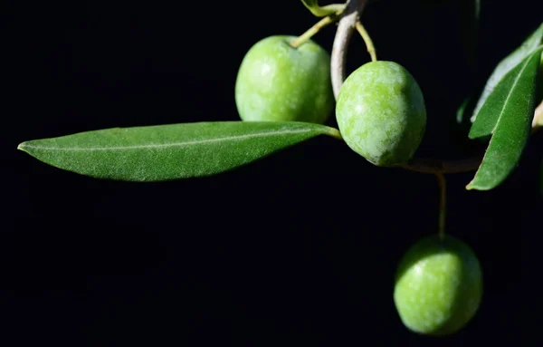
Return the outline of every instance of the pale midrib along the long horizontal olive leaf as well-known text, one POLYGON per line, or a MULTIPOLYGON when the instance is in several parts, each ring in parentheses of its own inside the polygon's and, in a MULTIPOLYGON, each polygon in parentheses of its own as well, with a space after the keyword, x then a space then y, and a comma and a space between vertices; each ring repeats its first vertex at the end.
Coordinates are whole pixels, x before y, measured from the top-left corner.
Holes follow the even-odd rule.
POLYGON ((302 130, 284 130, 284 131, 269 131, 269 132, 259 132, 252 134, 244 134, 237 136, 229 136, 216 139, 206 139, 206 140, 191 140, 183 142, 172 142, 172 143, 160 143, 160 144, 148 144, 148 145, 134 145, 134 146, 118 146, 118 147, 49 147, 49 146, 35 146, 32 144, 22 143, 19 145, 18 149, 42 149, 42 150, 129 150, 129 149, 164 149, 171 147, 184 147, 189 145, 205 144, 205 143, 214 143, 221 141, 233 141, 233 140, 246 140, 251 138, 265 137, 265 136, 281 136, 287 134, 299 134, 304 132, 310 132, 312 129, 302 129, 302 130))

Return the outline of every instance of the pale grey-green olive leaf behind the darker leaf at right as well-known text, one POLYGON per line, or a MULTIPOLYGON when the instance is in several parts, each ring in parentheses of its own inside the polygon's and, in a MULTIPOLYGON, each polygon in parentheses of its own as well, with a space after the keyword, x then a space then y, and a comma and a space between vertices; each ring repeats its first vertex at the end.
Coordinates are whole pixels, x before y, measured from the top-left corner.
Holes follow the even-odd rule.
POLYGON ((481 92, 479 101, 475 106, 472 114, 472 122, 477 119, 481 108, 491 92, 496 88, 498 83, 505 78, 505 75, 519 65, 531 53, 534 53, 540 44, 543 43, 543 23, 539 25, 529 37, 515 51, 505 57, 494 69, 491 77, 486 82, 484 90, 481 92))

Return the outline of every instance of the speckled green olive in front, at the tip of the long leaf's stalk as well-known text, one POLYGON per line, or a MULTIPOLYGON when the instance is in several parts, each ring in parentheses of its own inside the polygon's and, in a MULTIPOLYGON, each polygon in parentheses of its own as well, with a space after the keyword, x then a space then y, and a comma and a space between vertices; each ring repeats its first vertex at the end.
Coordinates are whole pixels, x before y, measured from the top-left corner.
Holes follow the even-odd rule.
POLYGON ((424 136, 423 92, 398 63, 366 63, 341 86, 336 118, 343 139, 362 157, 380 167, 401 165, 424 136))

